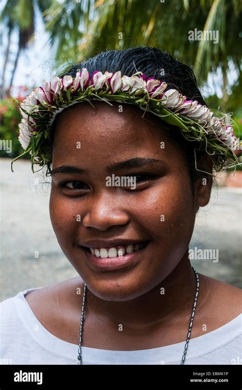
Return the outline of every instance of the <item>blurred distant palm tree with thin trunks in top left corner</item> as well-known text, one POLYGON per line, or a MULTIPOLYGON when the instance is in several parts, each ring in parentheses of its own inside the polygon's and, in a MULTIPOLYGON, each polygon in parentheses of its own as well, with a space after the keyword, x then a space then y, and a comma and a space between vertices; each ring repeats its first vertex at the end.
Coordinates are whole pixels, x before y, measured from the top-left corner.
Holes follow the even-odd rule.
POLYGON ((35 30, 35 4, 39 7, 40 11, 44 11, 51 5, 51 0, 7 0, 7 3, 3 9, 1 19, 5 23, 8 29, 8 44, 5 53, 4 68, 2 75, 2 87, 1 95, 5 92, 5 72, 9 63, 9 52, 11 46, 11 35, 13 30, 18 31, 18 49, 15 54, 14 65, 12 69, 10 84, 8 91, 10 91, 15 69, 17 68, 18 58, 21 50, 26 49, 27 43, 33 35, 35 30))

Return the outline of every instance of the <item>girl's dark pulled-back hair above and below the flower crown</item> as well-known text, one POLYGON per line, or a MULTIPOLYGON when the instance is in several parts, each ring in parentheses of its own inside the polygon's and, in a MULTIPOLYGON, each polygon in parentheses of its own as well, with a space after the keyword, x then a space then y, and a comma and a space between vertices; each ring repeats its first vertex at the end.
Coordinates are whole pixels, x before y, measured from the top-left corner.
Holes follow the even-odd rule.
MULTIPOLYGON (((167 89, 177 89, 189 100, 198 100, 202 105, 206 106, 205 101, 198 89, 197 80, 192 69, 182 64, 177 58, 171 54, 161 51, 155 47, 141 46, 125 50, 107 50, 103 51, 92 58, 88 58, 82 63, 71 65, 65 72, 60 73, 59 77, 65 75, 76 76, 78 69, 87 68, 89 73, 95 70, 101 72, 117 72, 121 71, 122 75, 132 76, 137 71, 141 71, 147 77, 165 81, 167 89)), ((58 116, 58 115, 57 115, 58 116)), ((195 167, 194 150, 199 148, 198 143, 190 142, 184 139, 182 132, 173 126, 167 125, 160 120, 162 128, 168 129, 167 135, 173 139, 176 144, 185 151, 187 157, 188 170, 191 177, 191 189, 194 191, 194 181, 200 176, 201 172, 195 167)), ((50 134, 50 149, 52 159, 52 146, 54 140, 54 121, 50 134)), ((204 151, 196 151, 197 162, 204 157, 204 151)), ((51 171, 50 164, 48 165, 51 171)), ((202 174, 205 175, 204 173, 202 174)))

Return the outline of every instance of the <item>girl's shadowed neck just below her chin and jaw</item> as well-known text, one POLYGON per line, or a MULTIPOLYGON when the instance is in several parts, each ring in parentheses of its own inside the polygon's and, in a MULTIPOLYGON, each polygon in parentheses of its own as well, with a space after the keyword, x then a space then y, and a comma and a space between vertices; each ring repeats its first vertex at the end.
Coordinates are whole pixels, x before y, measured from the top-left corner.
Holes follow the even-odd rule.
POLYGON ((108 323, 146 327, 175 317, 190 315, 197 280, 188 259, 188 249, 176 268, 155 288, 129 301, 107 301, 87 288, 86 310, 108 323), (164 294, 161 294, 161 289, 164 294))

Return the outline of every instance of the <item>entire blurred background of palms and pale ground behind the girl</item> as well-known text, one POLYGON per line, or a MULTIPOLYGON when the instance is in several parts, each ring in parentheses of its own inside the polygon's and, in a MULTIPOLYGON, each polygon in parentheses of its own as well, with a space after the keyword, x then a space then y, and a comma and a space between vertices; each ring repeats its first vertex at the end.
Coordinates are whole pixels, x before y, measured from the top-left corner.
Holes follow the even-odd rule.
MULTIPOLYGON (((242 140, 242 2, 3 0, 0 10, 3 300, 21 290, 77 276, 52 230, 50 183, 44 182, 43 173, 32 173, 28 157, 16 161, 11 172, 11 159, 23 152, 17 139, 21 116, 15 99, 23 100, 44 78, 102 50, 156 46, 193 69, 207 105, 232 114, 234 132, 242 140), (210 31, 210 38, 199 40, 199 31, 210 31)), ((240 161, 241 151, 240 141, 235 151, 240 161)), ((219 249, 217 262, 191 262, 198 272, 240 287, 241 174, 237 167, 235 173, 228 169, 217 175, 211 200, 198 213, 190 245, 219 249)))

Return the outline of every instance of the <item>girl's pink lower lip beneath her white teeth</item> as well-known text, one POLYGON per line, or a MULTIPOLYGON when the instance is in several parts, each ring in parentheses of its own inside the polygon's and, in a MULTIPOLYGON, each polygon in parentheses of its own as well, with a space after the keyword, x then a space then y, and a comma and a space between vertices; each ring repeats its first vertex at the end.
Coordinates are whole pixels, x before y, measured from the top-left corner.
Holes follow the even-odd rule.
POLYGON ((133 268, 141 260, 142 253, 144 250, 146 250, 149 243, 150 243, 150 241, 148 242, 146 247, 140 249, 139 251, 134 251, 134 252, 126 254, 122 257, 101 258, 101 257, 96 257, 95 255, 92 255, 84 248, 82 248, 82 250, 86 255, 86 259, 87 259, 88 264, 95 271, 98 271, 98 270, 99 271, 115 271, 115 270, 120 270, 120 269, 127 268, 127 267, 133 268))

